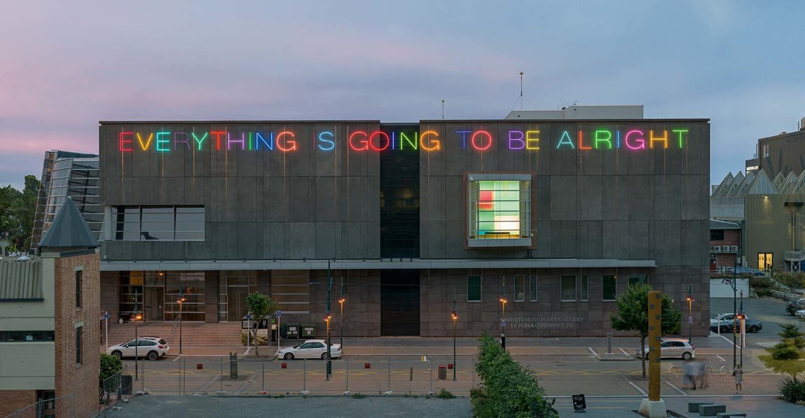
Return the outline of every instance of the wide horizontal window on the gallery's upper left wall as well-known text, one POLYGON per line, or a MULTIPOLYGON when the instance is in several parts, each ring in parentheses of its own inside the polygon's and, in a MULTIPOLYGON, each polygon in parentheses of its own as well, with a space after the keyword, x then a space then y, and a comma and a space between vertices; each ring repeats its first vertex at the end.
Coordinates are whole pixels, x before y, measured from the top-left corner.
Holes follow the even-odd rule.
POLYGON ((114 240, 203 241, 203 206, 115 206, 114 240))

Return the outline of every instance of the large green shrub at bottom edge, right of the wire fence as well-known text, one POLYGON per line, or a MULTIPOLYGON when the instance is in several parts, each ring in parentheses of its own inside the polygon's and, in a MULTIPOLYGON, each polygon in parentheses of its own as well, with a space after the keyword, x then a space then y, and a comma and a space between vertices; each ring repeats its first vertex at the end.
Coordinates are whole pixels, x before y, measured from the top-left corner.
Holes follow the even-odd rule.
POLYGON ((533 371, 515 362, 508 351, 487 334, 479 338, 478 363, 481 390, 471 391, 473 414, 485 417, 558 417, 555 400, 547 400, 533 371))

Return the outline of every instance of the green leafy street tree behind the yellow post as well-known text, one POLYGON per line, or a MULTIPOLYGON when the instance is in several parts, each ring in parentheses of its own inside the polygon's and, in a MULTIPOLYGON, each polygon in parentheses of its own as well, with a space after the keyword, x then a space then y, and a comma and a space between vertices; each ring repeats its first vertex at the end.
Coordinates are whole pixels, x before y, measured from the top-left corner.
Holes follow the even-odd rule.
MULTIPOLYGON (((650 285, 635 283, 629 285, 626 293, 615 300, 617 314, 611 314, 609 322, 618 331, 637 331, 640 335, 640 352, 646 352, 646 336, 649 334, 649 292, 650 285)), ((674 309, 671 297, 663 293, 662 333, 676 334, 681 328, 679 318, 682 314, 674 309)), ((646 356, 641 355, 643 377, 646 377, 646 356)))

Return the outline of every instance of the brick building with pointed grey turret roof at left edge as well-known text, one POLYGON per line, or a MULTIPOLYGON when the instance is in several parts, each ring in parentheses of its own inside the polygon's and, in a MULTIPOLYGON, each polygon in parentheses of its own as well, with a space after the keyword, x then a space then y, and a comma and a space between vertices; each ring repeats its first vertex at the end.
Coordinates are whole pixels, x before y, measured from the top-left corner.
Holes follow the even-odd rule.
POLYGON ((67 199, 41 256, 0 262, 0 416, 43 400, 43 416, 98 411, 98 242, 67 199))

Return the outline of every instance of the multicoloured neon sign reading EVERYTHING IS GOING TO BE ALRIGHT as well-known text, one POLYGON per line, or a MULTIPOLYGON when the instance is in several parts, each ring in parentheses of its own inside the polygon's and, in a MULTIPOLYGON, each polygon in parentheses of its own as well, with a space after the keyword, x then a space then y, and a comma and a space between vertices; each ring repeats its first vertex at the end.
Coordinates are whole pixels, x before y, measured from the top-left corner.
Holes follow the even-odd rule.
MULTIPOLYGON (((510 129, 502 141, 497 141, 489 130, 466 129, 456 130, 455 145, 462 150, 484 152, 497 145, 500 148, 523 152, 537 152, 545 145, 539 129, 510 129)), ((687 146, 688 129, 595 129, 589 133, 583 130, 576 132, 564 130, 551 146, 555 150, 630 150, 669 148, 683 149, 687 146)), ((452 134, 452 133, 451 133, 452 134)), ((452 139, 451 139, 452 140, 452 139)), ((231 133, 226 130, 196 132, 159 132, 121 131, 118 133, 118 150, 121 152, 147 152, 154 150, 168 153, 178 150, 214 150, 214 151, 277 151, 293 152, 303 145, 312 144, 314 150, 332 151, 340 140, 330 130, 316 132, 312 141, 303 138, 290 129, 281 131, 252 131, 231 133)), ((440 151, 447 139, 440 137, 435 130, 386 132, 382 130, 354 130, 345 137, 346 146, 353 152, 380 152, 386 150, 424 150, 440 151)))

